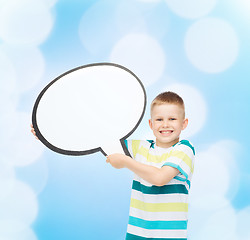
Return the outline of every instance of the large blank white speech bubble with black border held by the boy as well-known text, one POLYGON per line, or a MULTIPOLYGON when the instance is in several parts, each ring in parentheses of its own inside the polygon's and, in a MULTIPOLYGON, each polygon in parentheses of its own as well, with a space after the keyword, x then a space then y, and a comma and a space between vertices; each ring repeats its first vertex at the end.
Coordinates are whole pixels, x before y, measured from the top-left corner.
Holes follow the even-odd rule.
POLYGON ((39 94, 32 113, 37 137, 66 155, 128 153, 124 139, 146 108, 142 82, 129 69, 97 63, 72 69, 39 94))

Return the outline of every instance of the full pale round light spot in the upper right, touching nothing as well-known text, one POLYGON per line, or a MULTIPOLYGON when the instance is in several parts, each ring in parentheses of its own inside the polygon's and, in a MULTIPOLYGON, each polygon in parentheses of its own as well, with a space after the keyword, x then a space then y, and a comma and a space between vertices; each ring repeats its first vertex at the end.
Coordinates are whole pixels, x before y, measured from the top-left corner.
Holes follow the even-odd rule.
POLYGON ((201 71, 218 73, 228 69, 239 51, 238 37, 229 23, 216 18, 195 22, 187 31, 185 50, 201 71))

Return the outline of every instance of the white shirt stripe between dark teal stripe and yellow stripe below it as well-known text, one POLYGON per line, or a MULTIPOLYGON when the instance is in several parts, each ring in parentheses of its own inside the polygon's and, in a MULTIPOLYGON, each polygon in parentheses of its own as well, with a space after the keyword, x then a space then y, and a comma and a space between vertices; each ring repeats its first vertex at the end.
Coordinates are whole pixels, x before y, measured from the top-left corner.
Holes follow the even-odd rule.
POLYGON ((146 203, 170 203, 184 202, 188 200, 187 194, 143 194, 140 191, 132 189, 131 198, 146 202, 146 203))

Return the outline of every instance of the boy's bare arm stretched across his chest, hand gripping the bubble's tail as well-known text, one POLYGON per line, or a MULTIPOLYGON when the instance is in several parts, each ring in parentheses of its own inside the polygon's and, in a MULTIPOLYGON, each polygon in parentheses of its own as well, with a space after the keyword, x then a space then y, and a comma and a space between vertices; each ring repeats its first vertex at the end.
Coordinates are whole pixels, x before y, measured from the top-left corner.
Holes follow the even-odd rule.
POLYGON ((157 168, 137 162, 129 156, 118 153, 107 156, 106 162, 110 163, 114 168, 128 168, 139 177, 156 186, 167 184, 179 173, 179 170, 170 166, 157 168))

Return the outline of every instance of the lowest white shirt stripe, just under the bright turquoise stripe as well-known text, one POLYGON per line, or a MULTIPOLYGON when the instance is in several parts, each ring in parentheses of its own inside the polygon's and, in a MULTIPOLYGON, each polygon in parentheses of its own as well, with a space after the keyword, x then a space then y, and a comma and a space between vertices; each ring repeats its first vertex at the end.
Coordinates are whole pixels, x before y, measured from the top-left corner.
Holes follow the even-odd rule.
POLYGON ((128 233, 146 238, 186 238, 187 230, 148 230, 128 225, 128 233))

